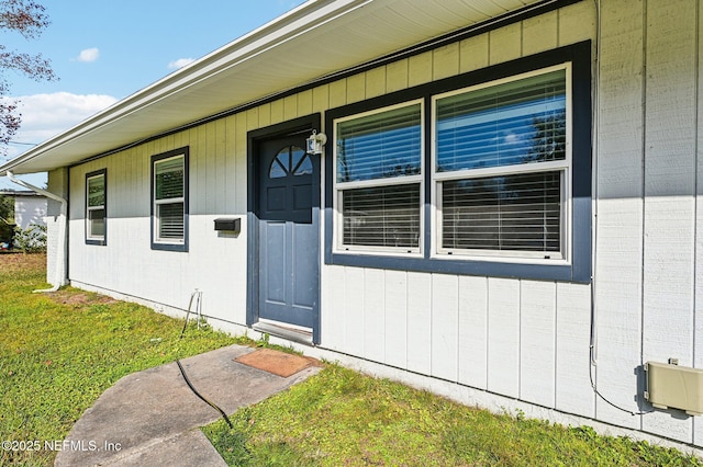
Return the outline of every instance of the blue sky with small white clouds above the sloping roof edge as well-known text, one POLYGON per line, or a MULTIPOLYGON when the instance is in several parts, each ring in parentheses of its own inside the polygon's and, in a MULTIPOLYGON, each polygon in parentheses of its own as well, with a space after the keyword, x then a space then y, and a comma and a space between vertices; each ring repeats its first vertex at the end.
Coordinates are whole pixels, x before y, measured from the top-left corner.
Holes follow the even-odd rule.
MULTIPOLYGON (((159 80, 190 60, 274 20, 303 0, 37 0, 52 24, 35 39, 0 31, 0 44, 41 53, 56 82, 8 75, 10 95, 22 102, 23 125, 0 162, 27 145, 159 80)), ((27 178, 44 183, 44 175, 27 178)), ((0 178, 0 190, 19 189, 0 178)))

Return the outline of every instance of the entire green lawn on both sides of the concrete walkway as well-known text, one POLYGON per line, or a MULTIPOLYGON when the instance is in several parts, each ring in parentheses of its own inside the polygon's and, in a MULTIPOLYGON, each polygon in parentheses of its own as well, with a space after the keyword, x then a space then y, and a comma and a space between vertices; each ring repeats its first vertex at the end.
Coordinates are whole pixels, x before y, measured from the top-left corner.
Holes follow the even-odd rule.
MULTIPOLYGON (((60 441, 120 377, 237 342, 194 327, 181 340, 182 321, 96 294, 32 294, 46 286, 43 262, 0 254, 0 441, 60 441)), ((334 364, 231 420, 232 430, 223 421, 203 429, 230 465, 703 466, 674 449, 494 415, 334 364)), ((0 466, 54 457, 0 449, 0 466)))

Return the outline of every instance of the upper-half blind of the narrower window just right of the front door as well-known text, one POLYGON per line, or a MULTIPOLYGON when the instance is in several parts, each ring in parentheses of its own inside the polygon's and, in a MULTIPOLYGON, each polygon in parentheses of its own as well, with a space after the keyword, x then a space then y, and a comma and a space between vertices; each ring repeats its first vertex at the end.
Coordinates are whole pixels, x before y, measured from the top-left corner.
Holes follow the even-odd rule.
POLYGON ((338 123, 337 182, 419 174, 421 119, 417 103, 338 123))

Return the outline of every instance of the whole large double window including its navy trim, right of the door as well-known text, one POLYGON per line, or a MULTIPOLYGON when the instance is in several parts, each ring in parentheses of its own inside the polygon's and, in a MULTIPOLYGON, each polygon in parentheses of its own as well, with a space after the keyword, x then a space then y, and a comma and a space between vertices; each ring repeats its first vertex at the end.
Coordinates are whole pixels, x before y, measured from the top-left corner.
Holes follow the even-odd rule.
POLYGON ((591 44, 326 112, 325 261, 591 281, 591 44))

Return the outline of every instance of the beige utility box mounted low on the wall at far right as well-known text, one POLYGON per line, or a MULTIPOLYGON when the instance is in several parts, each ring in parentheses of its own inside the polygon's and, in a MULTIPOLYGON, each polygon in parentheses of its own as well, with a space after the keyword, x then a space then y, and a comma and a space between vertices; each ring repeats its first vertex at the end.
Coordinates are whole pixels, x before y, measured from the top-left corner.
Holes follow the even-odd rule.
POLYGON ((680 409, 703 414, 703 369, 671 363, 645 363, 647 399, 657 409, 680 409))

